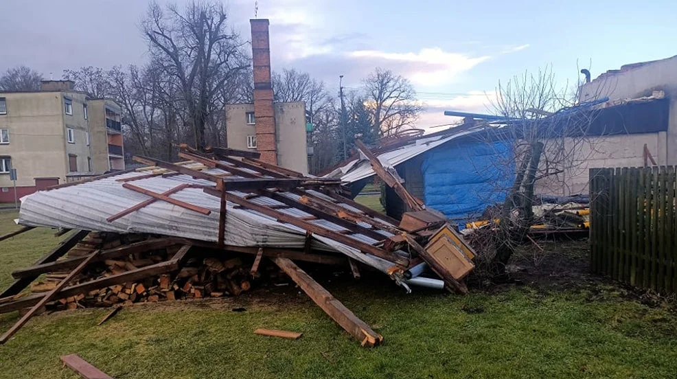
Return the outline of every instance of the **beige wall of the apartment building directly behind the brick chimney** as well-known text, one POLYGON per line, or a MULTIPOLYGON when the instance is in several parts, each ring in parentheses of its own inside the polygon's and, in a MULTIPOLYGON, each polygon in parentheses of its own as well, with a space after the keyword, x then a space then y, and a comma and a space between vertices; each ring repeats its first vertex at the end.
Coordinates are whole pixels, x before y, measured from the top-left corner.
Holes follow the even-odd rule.
MULTIPOLYGON (((246 124, 246 113, 253 111, 253 104, 225 106, 226 136, 229 148, 255 150, 246 147, 247 136, 256 135, 255 125, 246 124)), ((306 103, 275 103, 275 129, 278 164, 284 168, 307 173, 306 103)))

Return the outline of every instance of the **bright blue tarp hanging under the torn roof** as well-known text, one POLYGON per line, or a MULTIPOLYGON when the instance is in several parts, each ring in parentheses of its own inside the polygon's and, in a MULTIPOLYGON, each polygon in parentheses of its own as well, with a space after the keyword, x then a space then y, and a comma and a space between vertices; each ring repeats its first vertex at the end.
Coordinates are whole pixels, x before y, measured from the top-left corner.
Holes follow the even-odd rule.
POLYGON ((466 140, 433 149, 421 166, 426 205, 463 225, 503 203, 515 172, 511 148, 504 141, 466 140))

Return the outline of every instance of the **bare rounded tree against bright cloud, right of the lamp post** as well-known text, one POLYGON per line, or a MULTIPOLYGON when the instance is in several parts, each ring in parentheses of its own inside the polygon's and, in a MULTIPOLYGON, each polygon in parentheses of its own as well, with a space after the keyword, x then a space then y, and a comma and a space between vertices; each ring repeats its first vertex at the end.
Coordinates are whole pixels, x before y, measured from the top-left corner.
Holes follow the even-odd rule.
POLYGON ((376 68, 363 80, 363 87, 372 123, 381 135, 410 126, 422 110, 411 82, 393 71, 376 68))

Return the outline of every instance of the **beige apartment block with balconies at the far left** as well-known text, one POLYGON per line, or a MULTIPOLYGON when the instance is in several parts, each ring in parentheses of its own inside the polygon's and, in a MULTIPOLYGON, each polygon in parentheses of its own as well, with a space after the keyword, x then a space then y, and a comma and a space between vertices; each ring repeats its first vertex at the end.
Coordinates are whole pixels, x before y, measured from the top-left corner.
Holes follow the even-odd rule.
POLYGON ((124 169, 121 110, 91 99, 68 80, 41 91, 0 92, 0 203, 49 185, 124 169))

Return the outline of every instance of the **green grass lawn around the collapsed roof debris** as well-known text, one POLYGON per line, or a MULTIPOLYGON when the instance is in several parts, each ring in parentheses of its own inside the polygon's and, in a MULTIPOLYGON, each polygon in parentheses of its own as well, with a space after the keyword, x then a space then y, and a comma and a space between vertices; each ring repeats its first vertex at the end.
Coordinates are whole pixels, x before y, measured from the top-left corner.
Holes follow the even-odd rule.
MULTIPOLYGON (((12 215, 1 215, 0 231, 12 215)), ((53 244, 51 231, 0 242, 0 283, 53 244), (12 262, 8 265, 8 262, 12 262)), ((380 274, 316 279, 385 345, 360 347, 298 288, 234 299, 73 310, 32 319, 0 346, 0 378, 76 378, 80 354, 114 378, 674 378, 677 317, 610 284, 513 286, 460 297, 406 295, 380 274), (376 275, 376 276, 375 276, 376 275), (385 280, 384 280, 385 279, 385 280), (244 312, 233 308, 244 307, 244 312), (303 332, 297 341, 255 328, 303 332)), ((0 316, 7 330, 18 315, 0 316)))

